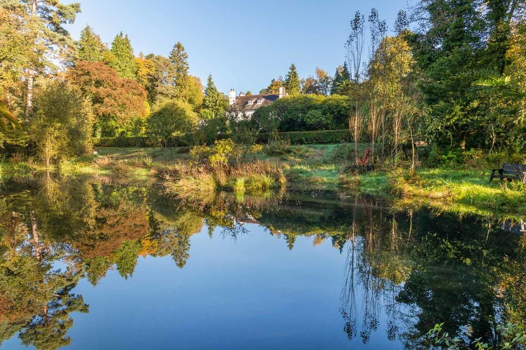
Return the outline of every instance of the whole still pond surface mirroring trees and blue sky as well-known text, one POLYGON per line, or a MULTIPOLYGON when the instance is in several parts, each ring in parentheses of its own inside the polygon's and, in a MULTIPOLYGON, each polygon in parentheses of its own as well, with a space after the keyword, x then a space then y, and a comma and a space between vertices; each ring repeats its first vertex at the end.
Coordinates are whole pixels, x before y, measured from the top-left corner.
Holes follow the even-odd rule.
POLYGON ((437 323, 497 345, 526 320, 524 238, 504 219, 318 192, 181 202, 159 185, 11 181, 0 348, 412 349, 437 323))

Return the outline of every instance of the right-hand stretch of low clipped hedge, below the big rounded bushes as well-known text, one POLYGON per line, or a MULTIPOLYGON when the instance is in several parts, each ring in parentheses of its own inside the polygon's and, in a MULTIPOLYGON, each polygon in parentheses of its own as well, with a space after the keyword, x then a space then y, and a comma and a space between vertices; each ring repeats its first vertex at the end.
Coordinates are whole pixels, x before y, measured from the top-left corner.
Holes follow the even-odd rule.
MULTIPOLYGON (((259 134, 257 142, 267 143, 270 133, 262 132, 259 134)), ((289 131, 280 132, 279 136, 289 140, 291 145, 306 145, 308 143, 338 143, 349 142, 349 130, 320 130, 320 131, 289 131)))

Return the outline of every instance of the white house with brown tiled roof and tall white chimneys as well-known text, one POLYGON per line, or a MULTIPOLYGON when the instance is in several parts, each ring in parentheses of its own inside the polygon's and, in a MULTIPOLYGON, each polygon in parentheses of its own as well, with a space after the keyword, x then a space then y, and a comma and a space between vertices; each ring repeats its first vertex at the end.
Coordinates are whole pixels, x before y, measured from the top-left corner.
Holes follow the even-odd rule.
POLYGON ((238 119, 251 118, 254 112, 261 107, 268 106, 278 98, 287 96, 285 87, 279 88, 279 94, 259 94, 259 95, 245 95, 243 92, 236 96, 236 90, 230 89, 228 93, 229 110, 227 113, 236 113, 238 119))

